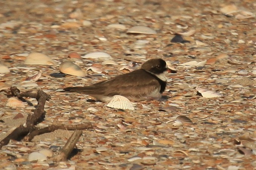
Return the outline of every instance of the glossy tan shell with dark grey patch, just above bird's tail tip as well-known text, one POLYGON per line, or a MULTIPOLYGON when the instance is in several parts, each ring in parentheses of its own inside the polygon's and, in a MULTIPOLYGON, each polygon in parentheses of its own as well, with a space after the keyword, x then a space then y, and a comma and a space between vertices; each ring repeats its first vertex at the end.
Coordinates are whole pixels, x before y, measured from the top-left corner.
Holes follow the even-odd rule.
POLYGON ((59 66, 59 70, 62 73, 73 76, 85 76, 85 72, 78 65, 70 61, 62 62, 59 66))

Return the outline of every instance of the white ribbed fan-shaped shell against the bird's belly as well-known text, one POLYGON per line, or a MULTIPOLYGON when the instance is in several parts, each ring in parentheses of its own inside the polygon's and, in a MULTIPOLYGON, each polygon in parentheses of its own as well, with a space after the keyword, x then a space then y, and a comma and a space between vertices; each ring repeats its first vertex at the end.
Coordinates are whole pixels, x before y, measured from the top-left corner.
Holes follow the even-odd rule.
POLYGON ((110 102, 106 105, 109 108, 134 110, 133 103, 126 97, 115 95, 110 102))

